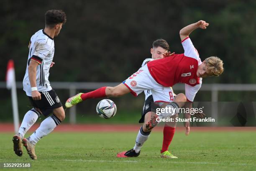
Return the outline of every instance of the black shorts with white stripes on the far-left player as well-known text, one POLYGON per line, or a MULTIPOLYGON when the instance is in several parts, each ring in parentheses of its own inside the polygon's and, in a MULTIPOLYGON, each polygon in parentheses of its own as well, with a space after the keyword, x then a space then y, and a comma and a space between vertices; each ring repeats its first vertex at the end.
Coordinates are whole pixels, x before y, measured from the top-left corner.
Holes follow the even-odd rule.
POLYGON ((41 100, 33 100, 30 96, 28 96, 28 98, 31 102, 31 105, 33 107, 39 108, 45 117, 50 115, 54 109, 62 106, 59 97, 53 89, 49 92, 40 93, 41 100))

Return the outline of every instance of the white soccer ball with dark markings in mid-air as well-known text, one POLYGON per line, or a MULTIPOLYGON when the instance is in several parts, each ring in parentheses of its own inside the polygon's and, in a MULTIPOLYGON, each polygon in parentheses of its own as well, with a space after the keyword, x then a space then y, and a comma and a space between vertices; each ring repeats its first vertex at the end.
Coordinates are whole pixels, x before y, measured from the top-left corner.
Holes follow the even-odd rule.
POLYGON ((101 100, 96 107, 97 114, 105 119, 110 119, 115 116, 116 105, 112 100, 104 99, 101 100))

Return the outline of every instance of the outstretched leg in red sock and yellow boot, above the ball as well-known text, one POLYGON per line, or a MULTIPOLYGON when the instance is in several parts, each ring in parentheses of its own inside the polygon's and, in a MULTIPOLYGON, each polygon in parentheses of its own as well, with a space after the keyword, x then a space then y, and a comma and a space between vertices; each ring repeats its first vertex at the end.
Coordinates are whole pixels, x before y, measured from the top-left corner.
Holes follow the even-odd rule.
POLYGON ((70 97, 65 103, 65 106, 69 108, 76 105, 79 102, 92 98, 94 99, 102 97, 120 97, 124 94, 128 94, 129 92, 131 91, 123 83, 115 87, 101 87, 92 92, 79 93, 73 97, 70 97))

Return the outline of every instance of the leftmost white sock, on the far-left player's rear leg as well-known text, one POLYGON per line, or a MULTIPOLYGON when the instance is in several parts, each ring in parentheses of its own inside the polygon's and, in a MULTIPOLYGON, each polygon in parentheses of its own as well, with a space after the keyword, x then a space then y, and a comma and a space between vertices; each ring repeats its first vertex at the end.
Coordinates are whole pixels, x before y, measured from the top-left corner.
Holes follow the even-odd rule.
POLYGON ((22 139, 24 138, 26 132, 31 128, 31 126, 36 123, 36 120, 39 116, 40 113, 35 108, 32 108, 25 114, 23 121, 20 125, 20 129, 18 131, 18 134, 22 139))

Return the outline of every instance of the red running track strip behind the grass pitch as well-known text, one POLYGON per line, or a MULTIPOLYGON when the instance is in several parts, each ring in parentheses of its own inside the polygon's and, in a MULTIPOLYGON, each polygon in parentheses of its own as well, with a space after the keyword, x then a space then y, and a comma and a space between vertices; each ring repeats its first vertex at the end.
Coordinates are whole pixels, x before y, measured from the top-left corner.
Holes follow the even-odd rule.
MULTIPOLYGON (((39 124, 35 124, 29 131, 35 131, 39 124)), ((106 125, 106 124, 60 124, 54 129, 54 132, 134 132, 138 131, 141 125, 106 125)), ((154 131, 162 131, 163 127, 158 126, 154 131)), ((184 127, 177 127, 176 131, 185 131, 184 127)), ((190 127, 190 132, 236 132, 236 131, 253 131, 256 127, 190 127)), ((0 133, 14 132, 13 123, 0 123, 0 133)))

